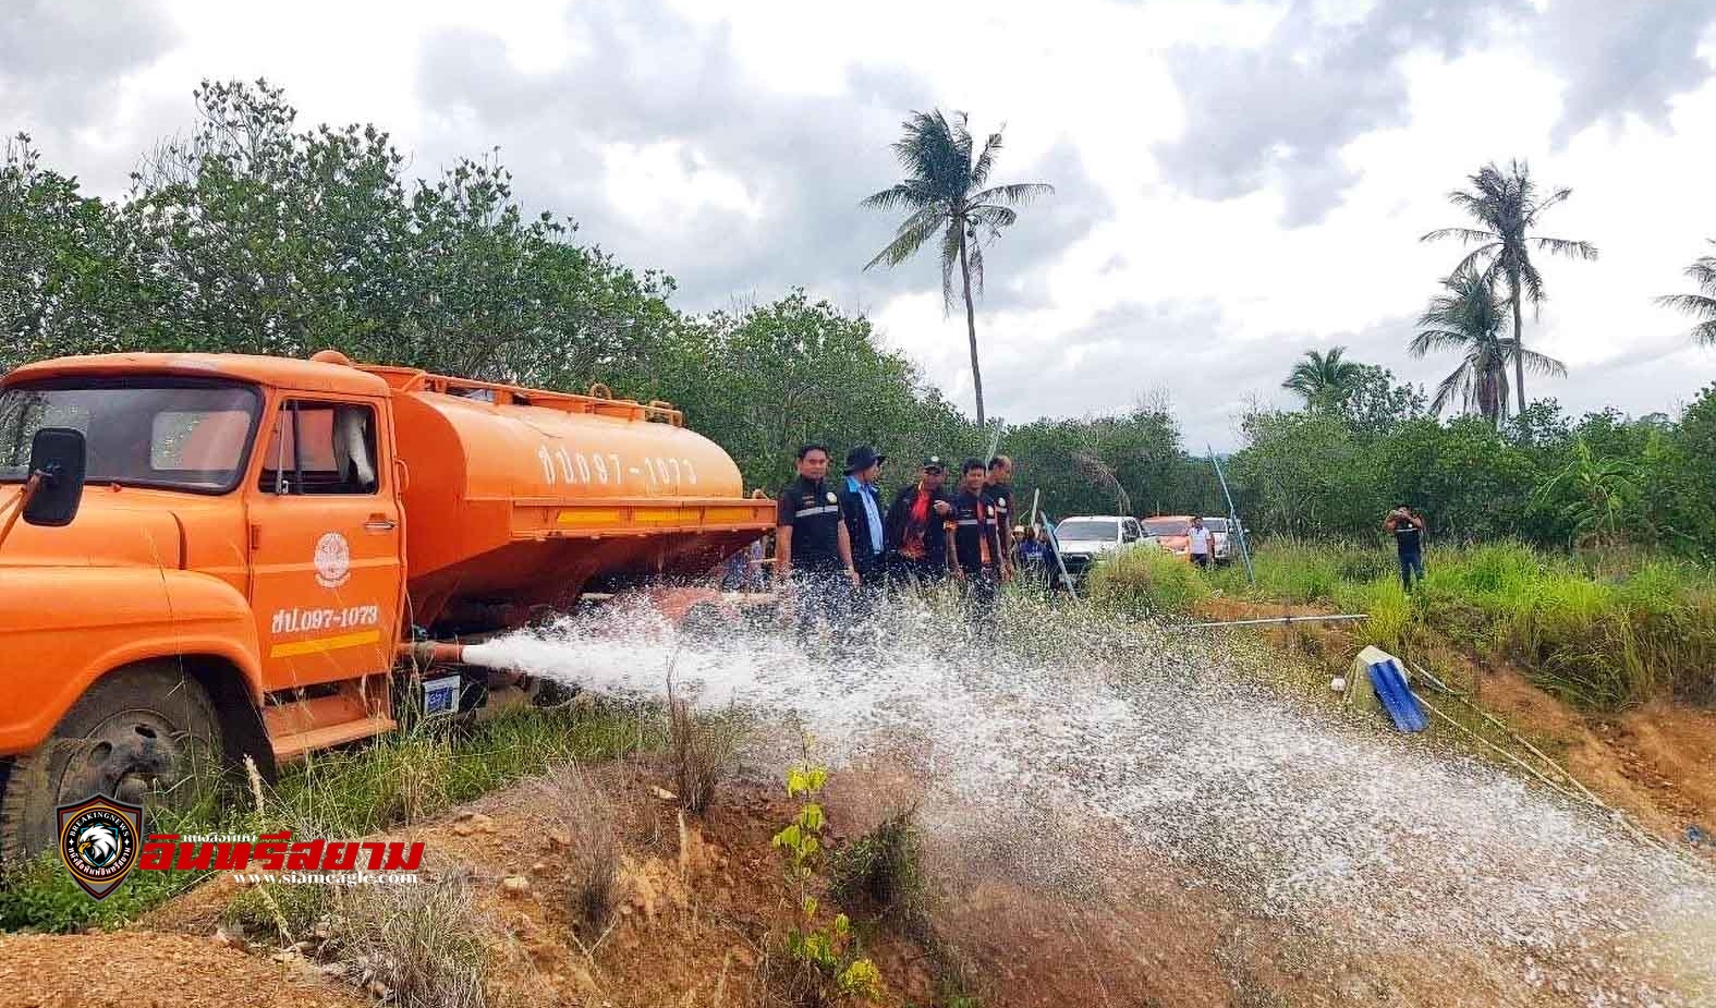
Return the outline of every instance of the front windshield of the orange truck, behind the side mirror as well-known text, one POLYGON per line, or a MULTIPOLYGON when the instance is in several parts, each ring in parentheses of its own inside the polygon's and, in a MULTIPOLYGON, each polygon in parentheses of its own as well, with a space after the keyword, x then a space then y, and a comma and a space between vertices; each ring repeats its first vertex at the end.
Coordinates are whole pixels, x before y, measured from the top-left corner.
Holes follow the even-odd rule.
POLYGON ((0 390, 0 483, 29 476, 41 428, 74 428, 89 483, 197 493, 239 484, 261 395, 247 385, 175 380, 53 380, 0 390))

